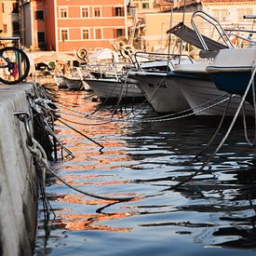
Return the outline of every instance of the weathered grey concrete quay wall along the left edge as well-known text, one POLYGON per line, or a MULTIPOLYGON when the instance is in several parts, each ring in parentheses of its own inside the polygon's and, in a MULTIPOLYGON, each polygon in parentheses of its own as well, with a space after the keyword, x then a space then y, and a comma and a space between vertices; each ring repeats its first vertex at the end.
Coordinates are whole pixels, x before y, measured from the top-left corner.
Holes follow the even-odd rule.
MULTIPOLYGON (((36 228, 37 175, 24 123, 33 83, 0 84, 0 255, 32 255, 36 228)), ((30 122, 32 123, 32 122, 30 122)))

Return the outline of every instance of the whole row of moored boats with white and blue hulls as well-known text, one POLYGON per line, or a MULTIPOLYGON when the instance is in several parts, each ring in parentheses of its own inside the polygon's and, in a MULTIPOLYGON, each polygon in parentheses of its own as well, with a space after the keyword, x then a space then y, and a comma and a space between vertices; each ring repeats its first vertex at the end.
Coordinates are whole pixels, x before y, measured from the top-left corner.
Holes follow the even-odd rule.
MULTIPOLYGON (((202 11, 195 12, 193 18, 196 16, 209 20, 202 11)), ((82 74, 78 70, 77 81, 82 83, 80 87, 92 89, 101 101, 145 98, 157 113, 191 110, 195 115, 222 115, 224 111, 234 115, 241 96, 247 93, 245 113, 254 115, 256 43, 236 48, 221 25, 217 26, 222 44, 200 34, 194 23, 194 29, 180 23, 168 31, 200 48, 197 61, 185 54, 137 52, 130 58, 132 63, 116 72, 114 66, 108 72, 87 69, 82 74)))

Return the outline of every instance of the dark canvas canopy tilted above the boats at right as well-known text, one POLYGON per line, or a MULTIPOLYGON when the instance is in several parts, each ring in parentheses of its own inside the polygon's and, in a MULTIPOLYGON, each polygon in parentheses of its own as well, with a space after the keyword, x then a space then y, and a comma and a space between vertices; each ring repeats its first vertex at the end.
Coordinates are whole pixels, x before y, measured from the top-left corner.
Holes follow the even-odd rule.
MULTIPOLYGON (((170 28, 167 31, 167 34, 175 34, 176 36, 178 36, 179 38, 181 38, 183 41, 193 45, 194 47, 197 47, 199 49, 204 49, 204 47, 202 46, 197 34, 195 33, 195 30, 187 27, 183 22, 178 23, 177 25, 175 25, 174 27, 170 28)), ((224 49, 224 48, 228 48, 225 45, 222 45, 219 42, 216 42, 212 39, 210 39, 209 37, 202 35, 202 37, 205 40, 205 43, 207 45, 207 47, 209 48, 209 50, 220 50, 220 49, 224 49)))

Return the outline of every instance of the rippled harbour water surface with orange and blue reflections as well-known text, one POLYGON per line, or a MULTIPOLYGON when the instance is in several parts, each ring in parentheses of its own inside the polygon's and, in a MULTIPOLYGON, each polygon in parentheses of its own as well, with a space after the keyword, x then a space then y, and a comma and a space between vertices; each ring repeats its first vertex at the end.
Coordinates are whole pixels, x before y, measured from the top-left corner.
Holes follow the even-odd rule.
MULTIPOLYGON (((61 92, 58 101, 86 113, 99 106, 87 92, 61 92)), ((112 110, 103 107, 95 115, 111 116, 112 110)), ((122 115, 131 110, 124 107, 122 115)), ((141 119, 155 115, 147 105, 133 110, 141 119)), ((58 175, 90 193, 135 199, 116 203, 81 195, 48 177, 47 195, 56 218, 51 214, 45 221, 40 201, 34 255, 256 254, 256 168, 243 129, 233 130, 210 169, 173 189, 202 166, 193 156, 208 143, 218 119, 100 121, 105 124, 95 126, 99 121, 61 116, 80 123, 66 121, 104 148, 100 152, 97 144, 58 122, 58 137, 75 156, 54 163, 58 175)))

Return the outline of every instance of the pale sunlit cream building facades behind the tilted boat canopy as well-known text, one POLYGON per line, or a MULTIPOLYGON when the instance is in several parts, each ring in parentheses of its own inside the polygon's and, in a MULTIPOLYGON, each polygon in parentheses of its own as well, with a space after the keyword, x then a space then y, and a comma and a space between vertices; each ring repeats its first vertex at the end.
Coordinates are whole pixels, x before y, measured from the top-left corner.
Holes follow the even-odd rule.
MULTIPOLYGON (((191 18, 196 10, 203 10, 211 17, 219 20, 222 28, 235 43, 236 47, 244 47, 245 42, 240 38, 235 39, 232 34, 248 38, 249 31, 256 31, 256 19, 244 19, 245 15, 256 15, 255 0, 186 0, 184 7, 183 0, 175 0, 172 7, 165 8, 161 13, 145 13, 145 33, 139 37, 141 45, 147 51, 166 50, 168 47, 168 29, 184 20, 187 26, 191 27, 191 18), (237 33, 236 30, 241 30, 237 33)), ((220 34, 213 26, 205 20, 195 19, 197 28, 202 34, 218 40, 220 34)), ((171 37, 174 41, 175 36, 171 37)), ((256 33, 252 39, 256 39, 256 33)), ((173 42, 172 42, 173 43, 173 42)), ((174 46, 172 46, 174 48, 174 46)))

